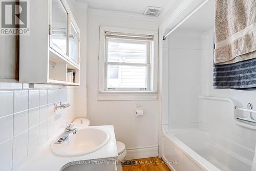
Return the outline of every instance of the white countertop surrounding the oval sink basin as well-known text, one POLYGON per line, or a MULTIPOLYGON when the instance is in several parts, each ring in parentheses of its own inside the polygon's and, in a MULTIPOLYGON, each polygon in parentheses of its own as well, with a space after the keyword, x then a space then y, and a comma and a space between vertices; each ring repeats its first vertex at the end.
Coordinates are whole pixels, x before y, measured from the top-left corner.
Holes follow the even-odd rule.
MULTIPOLYGON (((19 171, 59 171, 62 166, 70 163, 76 162, 79 164, 84 160, 91 159, 108 159, 115 160, 118 157, 117 147, 116 147, 116 138, 113 125, 103 125, 103 126, 89 126, 89 127, 98 127, 110 133, 111 138, 110 141, 104 145, 102 148, 98 149, 98 151, 83 155, 83 156, 75 156, 75 157, 61 157, 54 155, 51 151, 50 144, 52 141, 48 141, 43 147, 41 147, 38 152, 32 156, 22 167, 20 167, 19 171)), ((82 129, 82 128, 79 128, 82 129)), ((79 130, 78 129, 78 130, 79 130)), ((57 137, 58 135, 55 135, 57 137)))

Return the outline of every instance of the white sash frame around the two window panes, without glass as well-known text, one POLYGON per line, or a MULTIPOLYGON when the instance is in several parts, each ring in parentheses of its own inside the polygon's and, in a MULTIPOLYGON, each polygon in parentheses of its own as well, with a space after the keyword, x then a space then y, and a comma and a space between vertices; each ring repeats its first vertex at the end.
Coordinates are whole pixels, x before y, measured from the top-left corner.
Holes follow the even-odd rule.
MULTIPOLYGON (((154 45, 151 40, 125 40, 125 39, 119 39, 119 41, 123 42, 146 42, 146 63, 129 63, 129 62, 109 62, 108 61, 108 40, 115 40, 114 38, 105 38, 105 91, 148 91, 150 90, 150 84, 151 84, 151 57, 152 57, 152 48, 154 45), (108 65, 118 65, 118 66, 143 66, 146 67, 146 89, 145 88, 108 88, 108 65)), ((117 40, 118 41, 118 40, 117 40)))

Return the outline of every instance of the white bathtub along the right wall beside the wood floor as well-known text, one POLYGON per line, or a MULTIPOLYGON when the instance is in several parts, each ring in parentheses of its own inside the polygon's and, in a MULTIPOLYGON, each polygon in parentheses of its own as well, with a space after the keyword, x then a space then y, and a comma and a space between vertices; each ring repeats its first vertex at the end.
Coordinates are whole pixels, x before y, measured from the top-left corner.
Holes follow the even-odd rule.
POLYGON ((250 171, 254 151, 194 126, 162 127, 161 157, 172 171, 250 171))

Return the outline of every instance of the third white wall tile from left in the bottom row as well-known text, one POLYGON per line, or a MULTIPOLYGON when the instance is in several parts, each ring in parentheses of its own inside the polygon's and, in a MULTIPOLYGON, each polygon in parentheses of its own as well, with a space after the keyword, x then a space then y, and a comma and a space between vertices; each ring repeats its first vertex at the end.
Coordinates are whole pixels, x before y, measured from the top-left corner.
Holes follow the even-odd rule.
POLYGON ((39 124, 29 129, 28 155, 32 156, 39 146, 39 124))

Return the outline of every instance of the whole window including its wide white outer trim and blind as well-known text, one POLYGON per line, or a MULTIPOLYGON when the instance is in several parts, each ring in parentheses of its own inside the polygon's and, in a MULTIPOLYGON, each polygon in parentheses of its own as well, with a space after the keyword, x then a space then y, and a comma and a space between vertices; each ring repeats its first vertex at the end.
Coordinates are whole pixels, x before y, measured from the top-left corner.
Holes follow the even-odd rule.
POLYGON ((156 93, 157 43, 156 31, 101 26, 99 94, 156 93))

